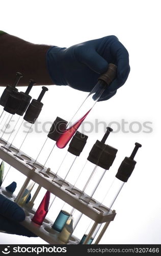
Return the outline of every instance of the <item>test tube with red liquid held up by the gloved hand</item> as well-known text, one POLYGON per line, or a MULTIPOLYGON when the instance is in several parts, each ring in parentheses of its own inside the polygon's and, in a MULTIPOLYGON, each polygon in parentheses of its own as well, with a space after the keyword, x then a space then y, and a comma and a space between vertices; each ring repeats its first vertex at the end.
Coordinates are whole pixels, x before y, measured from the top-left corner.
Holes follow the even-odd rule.
POLYGON ((111 82, 116 78, 116 70, 117 67, 110 63, 108 71, 100 75, 97 84, 81 104, 79 109, 76 111, 72 119, 67 124, 66 130, 58 139, 56 144, 59 148, 64 148, 69 140, 73 137, 78 127, 82 124, 82 122, 92 110, 95 103, 101 97, 104 90, 107 88, 107 86, 110 86, 111 82))

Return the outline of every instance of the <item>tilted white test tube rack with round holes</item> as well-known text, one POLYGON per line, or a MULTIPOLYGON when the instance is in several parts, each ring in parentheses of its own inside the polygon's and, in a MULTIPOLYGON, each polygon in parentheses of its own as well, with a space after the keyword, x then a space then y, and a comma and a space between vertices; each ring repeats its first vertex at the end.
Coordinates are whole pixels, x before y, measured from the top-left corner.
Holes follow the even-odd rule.
MULTIPOLYGON (((116 216, 115 210, 108 209, 95 199, 89 198, 87 194, 68 182, 64 181, 62 184, 63 179, 61 177, 56 176, 49 168, 42 166, 41 163, 35 162, 32 157, 19 151, 14 145, 10 146, 10 144, 3 139, 0 139, 0 158, 24 174, 27 179, 35 181, 37 184, 50 191, 50 193, 92 219, 95 223, 94 227, 92 227, 92 230, 89 232, 90 236, 99 223, 110 223, 114 220, 116 216), (55 177, 54 181, 52 181, 53 177, 55 177)), ((21 190, 21 195, 23 195, 24 190, 25 187, 21 190)), ((16 199, 14 194, 10 194, 3 187, 1 187, 0 193, 10 200, 15 201, 16 199)), ((49 244, 64 244, 58 238, 59 232, 51 228, 53 221, 46 218, 43 224, 39 226, 31 221, 36 209, 31 209, 27 205, 23 207, 23 209, 26 218, 21 222, 21 225, 31 230, 49 244)), ((85 243, 88 243, 89 239, 90 237, 88 236, 85 243)), ((79 240, 73 236, 69 240, 69 244, 78 243, 79 240)))

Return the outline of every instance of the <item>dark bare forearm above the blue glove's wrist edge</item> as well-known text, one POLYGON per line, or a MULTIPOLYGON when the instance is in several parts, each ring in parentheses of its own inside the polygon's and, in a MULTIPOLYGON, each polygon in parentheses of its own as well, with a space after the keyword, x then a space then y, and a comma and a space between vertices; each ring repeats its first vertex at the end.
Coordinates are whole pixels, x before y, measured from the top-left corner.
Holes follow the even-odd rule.
POLYGON ((18 37, 0 36, 0 86, 12 84, 17 71, 23 74, 19 86, 26 86, 30 79, 37 85, 53 84, 47 71, 46 52, 51 46, 35 45, 18 37))

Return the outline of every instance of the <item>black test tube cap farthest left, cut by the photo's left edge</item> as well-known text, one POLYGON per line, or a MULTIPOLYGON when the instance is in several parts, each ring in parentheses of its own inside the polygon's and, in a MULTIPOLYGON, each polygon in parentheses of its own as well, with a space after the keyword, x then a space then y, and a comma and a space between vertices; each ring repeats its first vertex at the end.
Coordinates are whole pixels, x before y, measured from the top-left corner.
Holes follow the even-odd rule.
POLYGON ((20 72, 17 72, 16 73, 16 78, 15 78, 12 86, 8 85, 5 88, 3 94, 1 95, 0 105, 5 106, 9 95, 12 94, 15 91, 18 91, 17 88, 15 88, 15 87, 17 86, 17 83, 19 82, 21 77, 22 77, 22 74, 20 72))

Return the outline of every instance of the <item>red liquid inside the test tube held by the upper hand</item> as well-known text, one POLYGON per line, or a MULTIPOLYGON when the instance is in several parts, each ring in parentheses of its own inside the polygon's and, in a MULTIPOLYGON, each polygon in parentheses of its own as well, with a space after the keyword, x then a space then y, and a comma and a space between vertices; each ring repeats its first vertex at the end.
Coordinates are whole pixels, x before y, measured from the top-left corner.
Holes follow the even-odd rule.
POLYGON ((67 130, 63 132, 63 134, 60 136, 56 143, 56 145, 59 148, 64 148, 68 144, 69 140, 73 137, 73 135, 75 134, 79 126, 82 124, 82 122, 85 120, 90 111, 91 109, 75 124, 73 124, 71 127, 69 127, 67 130))

